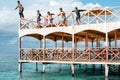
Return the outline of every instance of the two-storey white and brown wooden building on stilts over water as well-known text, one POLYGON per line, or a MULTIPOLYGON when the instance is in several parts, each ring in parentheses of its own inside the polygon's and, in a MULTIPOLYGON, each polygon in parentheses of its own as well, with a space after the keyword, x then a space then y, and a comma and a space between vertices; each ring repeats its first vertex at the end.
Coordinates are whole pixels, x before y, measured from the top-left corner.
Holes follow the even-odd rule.
POLYGON ((37 28, 34 19, 21 19, 18 30, 19 71, 22 71, 22 64, 28 62, 35 62, 36 69, 37 63, 67 63, 71 64, 74 75, 74 64, 101 64, 105 66, 105 76, 108 76, 109 64, 120 65, 119 11, 119 7, 92 8, 82 12, 80 25, 76 25, 74 13, 70 13, 67 14, 68 25, 56 27, 46 27, 43 22, 42 27, 37 28), (24 36, 40 41, 40 47, 22 48, 21 38, 24 36), (46 48, 46 39, 54 41, 54 48, 46 48), (58 40, 61 40, 61 48, 57 48, 58 40), (85 46, 79 47, 80 42, 85 46), (67 46, 64 43, 68 43, 67 46))

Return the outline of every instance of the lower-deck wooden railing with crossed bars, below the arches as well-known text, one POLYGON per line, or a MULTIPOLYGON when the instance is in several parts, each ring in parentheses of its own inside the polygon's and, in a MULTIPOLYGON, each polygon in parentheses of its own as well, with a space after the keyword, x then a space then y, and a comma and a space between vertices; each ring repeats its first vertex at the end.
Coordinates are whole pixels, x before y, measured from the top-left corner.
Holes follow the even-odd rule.
POLYGON ((120 48, 21 49, 20 60, 66 62, 120 62, 120 48))

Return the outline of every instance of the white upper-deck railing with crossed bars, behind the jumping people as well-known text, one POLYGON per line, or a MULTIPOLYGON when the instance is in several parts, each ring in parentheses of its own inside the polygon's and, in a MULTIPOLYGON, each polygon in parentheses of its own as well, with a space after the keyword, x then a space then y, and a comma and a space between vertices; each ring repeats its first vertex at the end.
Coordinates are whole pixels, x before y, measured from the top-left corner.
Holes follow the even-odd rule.
MULTIPOLYGON (((98 8, 99 9, 99 8, 98 8)), ((98 23, 110 23, 120 21, 120 7, 111 7, 111 8, 100 8, 100 11, 96 13, 92 12, 92 10, 96 10, 96 8, 87 10, 81 13, 80 25, 84 24, 98 24, 98 23), (91 16, 92 15, 92 16, 91 16)), ((67 17, 67 26, 76 25, 75 21, 75 13, 66 13, 67 17)), ((53 17, 53 24, 56 27, 60 27, 58 25, 59 16, 55 15, 53 17)), ((46 28, 45 17, 41 19, 41 28, 46 28)), ((38 29, 36 17, 32 17, 31 19, 21 19, 19 29, 38 29)))

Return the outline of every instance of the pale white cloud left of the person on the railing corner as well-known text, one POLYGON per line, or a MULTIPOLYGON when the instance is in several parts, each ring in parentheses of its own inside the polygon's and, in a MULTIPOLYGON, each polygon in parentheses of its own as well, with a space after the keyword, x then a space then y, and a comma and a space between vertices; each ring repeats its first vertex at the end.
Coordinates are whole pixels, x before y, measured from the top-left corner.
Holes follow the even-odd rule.
POLYGON ((17 29, 17 14, 9 8, 2 8, 0 12, 0 30, 15 31, 17 29))

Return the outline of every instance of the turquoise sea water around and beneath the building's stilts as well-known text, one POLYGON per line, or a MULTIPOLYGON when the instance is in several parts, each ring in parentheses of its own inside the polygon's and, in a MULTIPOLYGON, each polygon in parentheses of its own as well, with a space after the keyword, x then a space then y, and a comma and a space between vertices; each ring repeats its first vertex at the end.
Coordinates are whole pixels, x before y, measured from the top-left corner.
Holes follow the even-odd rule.
POLYGON ((109 77, 104 77, 104 68, 96 65, 93 70, 92 65, 88 65, 85 70, 84 65, 75 65, 75 76, 72 77, 70 65, 62 64, 59 71, 58 64, 46 65, 46 72, 42 73, 42 64, 38 63, 38 71, 35 70, 35 63, 23 64, 23 72, 18 72, 18 54, 0 54, 0 80, 120 80, 118 71, 109 72, 109 77))

